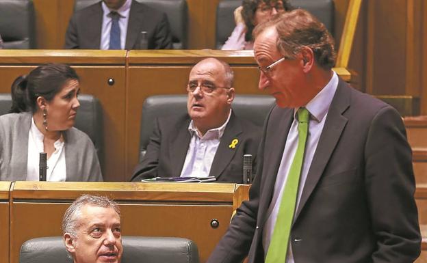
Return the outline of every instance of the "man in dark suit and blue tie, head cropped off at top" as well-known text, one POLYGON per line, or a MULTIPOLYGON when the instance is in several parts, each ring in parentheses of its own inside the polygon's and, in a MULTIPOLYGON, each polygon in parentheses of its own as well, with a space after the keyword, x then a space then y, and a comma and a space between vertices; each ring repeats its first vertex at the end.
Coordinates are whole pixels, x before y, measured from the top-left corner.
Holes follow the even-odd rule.
POLYGON ((66 31, 65 49, 147 48, 172 49, 168 18, 135 0, 103 0, 83 8, 75 12, 66 31))

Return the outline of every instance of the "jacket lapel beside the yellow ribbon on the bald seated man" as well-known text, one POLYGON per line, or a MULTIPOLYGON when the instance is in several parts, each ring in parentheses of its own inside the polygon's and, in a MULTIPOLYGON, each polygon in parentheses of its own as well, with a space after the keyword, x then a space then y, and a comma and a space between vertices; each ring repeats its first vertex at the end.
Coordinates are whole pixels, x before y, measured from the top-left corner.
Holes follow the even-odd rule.
POLYGON ((242 126, 237 122, 232 111, 229 123, 224 130, 224 134, 220 140, 220 145, 218 146, 215 157, 213 158, 209 176, 215 176, 217 179, 222 176, 222 172, 225 167, 229 165, 235 152, 237 152, 237 149, 240 147, 240 143, 237 143, 235 148, 230 148, 229 145, 233 139, 237 139, 237 136, 240 135, 240 133, 242 133, 242 126))

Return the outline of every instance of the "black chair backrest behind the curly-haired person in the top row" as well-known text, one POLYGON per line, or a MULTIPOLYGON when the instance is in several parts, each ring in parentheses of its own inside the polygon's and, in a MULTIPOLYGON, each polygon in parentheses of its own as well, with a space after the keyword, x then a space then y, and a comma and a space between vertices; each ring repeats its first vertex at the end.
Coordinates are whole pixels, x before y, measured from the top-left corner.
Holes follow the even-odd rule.
MULTIPOLYGON (((319 18, 334 35, 335 5, 333 0, 289 0, 294 8, 302 8, 319 18)), ((222 0, 216 9, 216 47, 220 49, 235 27, 234 10, 242 0, 222 0)))

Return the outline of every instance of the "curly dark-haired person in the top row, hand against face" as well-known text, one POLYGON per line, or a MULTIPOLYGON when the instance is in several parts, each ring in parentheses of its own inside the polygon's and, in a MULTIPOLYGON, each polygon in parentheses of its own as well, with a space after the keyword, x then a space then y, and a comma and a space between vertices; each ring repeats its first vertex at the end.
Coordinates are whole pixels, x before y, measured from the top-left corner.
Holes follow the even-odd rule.
POLYGON ((288 0, 243 0, 234 10, 236 27, 222 50, 253 49, 252 31, 274 14, 292 10, 288 0))

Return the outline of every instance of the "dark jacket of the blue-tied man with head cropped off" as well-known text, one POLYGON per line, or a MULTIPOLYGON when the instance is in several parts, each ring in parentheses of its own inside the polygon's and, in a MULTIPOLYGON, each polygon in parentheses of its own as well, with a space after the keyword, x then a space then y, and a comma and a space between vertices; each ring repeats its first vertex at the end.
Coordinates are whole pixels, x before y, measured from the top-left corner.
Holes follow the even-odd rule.
MULTIPOLYGON (((101 1, 75 12, 66 31, 65 49, 99 49, 102 21, 101 1)), ((148 32, 148 49, 172 49, 172 34, 166 14, 133 0, 125 49, 139 49, 141 31, 148 32)))

